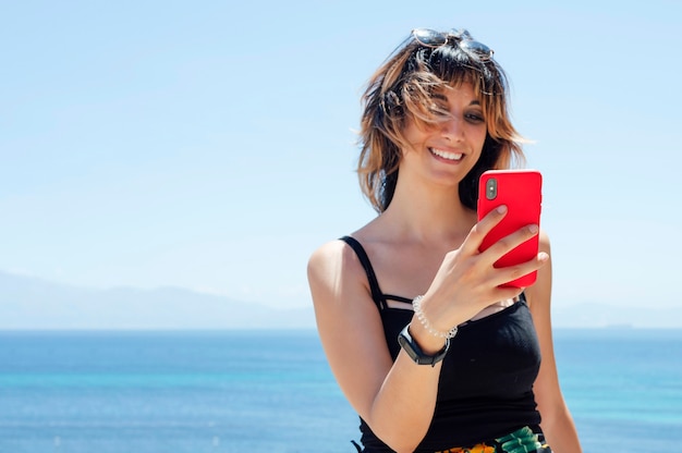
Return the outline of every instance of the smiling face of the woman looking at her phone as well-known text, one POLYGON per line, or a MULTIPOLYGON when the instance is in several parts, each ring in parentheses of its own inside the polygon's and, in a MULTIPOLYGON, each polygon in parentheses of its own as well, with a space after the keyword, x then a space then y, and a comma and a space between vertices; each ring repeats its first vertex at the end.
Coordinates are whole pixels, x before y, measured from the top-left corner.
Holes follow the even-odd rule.
POLYGON ((407 148, 403 149, 400 173, 414 170, 434 182, 459 184, 483 150, 487 133, 483 108, 468 83, 448 88, 436 100, 450 118, 429 128, 407 122, 403 132, 407 148))

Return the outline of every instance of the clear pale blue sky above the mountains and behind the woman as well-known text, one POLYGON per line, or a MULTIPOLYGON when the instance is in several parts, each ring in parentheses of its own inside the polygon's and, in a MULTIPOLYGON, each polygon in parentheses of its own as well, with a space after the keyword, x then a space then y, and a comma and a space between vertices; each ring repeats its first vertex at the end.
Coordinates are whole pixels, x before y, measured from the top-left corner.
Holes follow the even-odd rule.
POLYGON ((465 27, 545 175, 555 303, 680 303, 682 3, 0 0, 0 271, 309 305, 375 216, 353 131, 414 27, 465 27))

